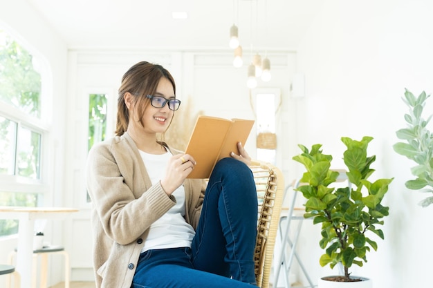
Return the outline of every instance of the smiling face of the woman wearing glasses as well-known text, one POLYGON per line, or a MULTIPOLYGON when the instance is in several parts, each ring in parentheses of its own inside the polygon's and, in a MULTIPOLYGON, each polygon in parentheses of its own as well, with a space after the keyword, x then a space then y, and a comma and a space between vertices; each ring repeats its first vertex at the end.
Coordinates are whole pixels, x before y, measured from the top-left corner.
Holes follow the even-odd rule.
MULTIPOLYGON (((151 96, 161 96, 165 99, 174 99, 174 89, 172 83, 167 78, 161 78, 156 92, 151 96)), ((147 106, 144 114, 143 124, 146 133, 163 133, 167 130, 174 111, 170 110, 168 103, 163 108, 155 108, 152 105, 147 106)), ((140 123, 136 122, 137 125, 140 123)))

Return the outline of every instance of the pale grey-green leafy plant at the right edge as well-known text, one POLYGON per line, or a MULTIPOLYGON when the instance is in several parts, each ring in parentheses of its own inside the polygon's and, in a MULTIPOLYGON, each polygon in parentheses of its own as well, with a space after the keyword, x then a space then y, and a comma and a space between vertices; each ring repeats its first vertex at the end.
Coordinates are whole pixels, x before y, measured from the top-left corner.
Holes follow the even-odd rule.
MULTIPOLYGON (((406 142, 398 142, 393 148, 396 153, 413 160, 416 166, 410 170, 416 177, 414 180, 405 182, 408 189, 420 190, 433 193, 433 135, 427 129, 427 124, 432 115, 427 119, 423 118, 425 101, 430 95, 423 91, 418 97, 405 89, 403 101, 409 106, 409 114, 405 114, 407 128, 396 132, 398 139, 406 142)), ((433 203, 433 196, 427 197, 420 202, 422 207, 433 203)))

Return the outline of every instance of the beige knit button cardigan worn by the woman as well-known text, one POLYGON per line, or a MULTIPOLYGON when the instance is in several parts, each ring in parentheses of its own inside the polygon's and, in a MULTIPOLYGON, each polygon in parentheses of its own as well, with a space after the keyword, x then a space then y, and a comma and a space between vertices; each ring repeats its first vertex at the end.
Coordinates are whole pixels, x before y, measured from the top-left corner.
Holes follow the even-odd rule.
MULTIPOLYGON (((179 153, 169 148, 173 154, 179 153)), ((152 185, 138 148, 125 133, 95 144, 86 166, 92 202, 93 267, 97 288, 130 288, 150 225, 176 203, 152 185)), ((196 228, 205 182, 185 180, 185 220, 196 228)))

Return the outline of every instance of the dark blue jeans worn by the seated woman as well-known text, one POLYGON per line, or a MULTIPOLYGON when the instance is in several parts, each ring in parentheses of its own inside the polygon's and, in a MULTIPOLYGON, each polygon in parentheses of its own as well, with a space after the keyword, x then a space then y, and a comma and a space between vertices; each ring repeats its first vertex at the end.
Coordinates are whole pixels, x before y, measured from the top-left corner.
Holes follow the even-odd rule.
POLYGON ((233 158, 212 171, 192 247, 140 254, 132 288, 255 285, 257 194, 252 172, 233 158))

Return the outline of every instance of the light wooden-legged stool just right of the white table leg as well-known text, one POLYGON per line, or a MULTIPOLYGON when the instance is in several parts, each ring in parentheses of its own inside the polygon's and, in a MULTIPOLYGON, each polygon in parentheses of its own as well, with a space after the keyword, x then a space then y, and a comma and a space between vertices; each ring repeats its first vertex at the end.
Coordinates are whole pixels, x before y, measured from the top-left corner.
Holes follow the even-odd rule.
MULTIPOLYGON (((9 253, 8 262, 10 265, 13 263, 13 258, 17 254, 17 249, 9 253)), ((37 278, 37 258, 41 258, 41 271, 40 271, 40 282, 39 288, 47 288, 48 280, 48 256, 50 255, 62 255, 64 256, 64 287, 69 288, 71 278, 71 267, 69 264, 69 254, 64 250, 62 246, 44 246, 42 249, 33 251, 33 271, 32 271, 32 287, 36 288, 37 278)), ((10 286, 8 286, 10 287, 10 286)))

